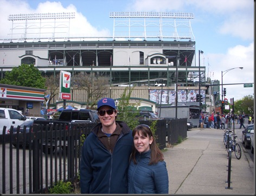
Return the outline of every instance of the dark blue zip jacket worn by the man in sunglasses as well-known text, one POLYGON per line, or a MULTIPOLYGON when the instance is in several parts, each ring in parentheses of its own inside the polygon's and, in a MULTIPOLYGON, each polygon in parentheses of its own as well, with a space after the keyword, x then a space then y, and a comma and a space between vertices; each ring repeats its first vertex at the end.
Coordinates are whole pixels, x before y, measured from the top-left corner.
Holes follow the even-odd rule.
POLYGON ((121 134, 110 153, 99 141, 101 123, 93 127, 82 146, 80 187, 84 194, 126 194, 127 170, 133 146, 132 131, 121 121, 121 134))

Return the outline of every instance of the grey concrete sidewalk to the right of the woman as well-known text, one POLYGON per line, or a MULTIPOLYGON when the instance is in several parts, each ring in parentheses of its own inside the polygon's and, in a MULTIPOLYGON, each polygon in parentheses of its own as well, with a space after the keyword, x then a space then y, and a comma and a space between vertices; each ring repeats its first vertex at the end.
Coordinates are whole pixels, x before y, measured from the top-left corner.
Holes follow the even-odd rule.
POLYGON ((187 139, 164 152, 169 194, 254 194, 254 164, 244 152, 241 130, 235 129, 235 133, 242 156, 238 160, 232 152, 229 188, 223 130, 193 128, 188 130, 187 139))

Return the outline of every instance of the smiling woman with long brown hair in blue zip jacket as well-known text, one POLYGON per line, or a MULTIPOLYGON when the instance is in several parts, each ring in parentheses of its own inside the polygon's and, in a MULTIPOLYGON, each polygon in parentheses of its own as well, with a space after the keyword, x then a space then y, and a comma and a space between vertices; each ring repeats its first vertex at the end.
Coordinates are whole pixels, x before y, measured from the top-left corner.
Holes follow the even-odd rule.
POLYGON ((129 194, 168 194, 169 180, 164 156, 148 125, 132 131, 133 150, 128 171, 129 194))

